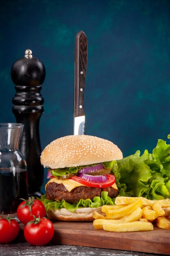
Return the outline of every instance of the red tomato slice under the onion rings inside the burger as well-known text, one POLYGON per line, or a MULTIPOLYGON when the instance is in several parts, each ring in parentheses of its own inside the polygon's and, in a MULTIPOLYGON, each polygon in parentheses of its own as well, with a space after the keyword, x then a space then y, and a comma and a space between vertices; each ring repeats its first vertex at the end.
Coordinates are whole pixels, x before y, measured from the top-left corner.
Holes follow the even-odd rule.
POLYGON ((84 180, 77 176, 70 177, 69 179, 75 180, 85 186, 91 186, 93 188, 107 188, 108 186, 112 186, 115 183, 116 179, 115 179, 115 176, 112 174, 106 174, 106 175, 108 177, 108 180, 106 182, 92 182, 92 181, 84 180))

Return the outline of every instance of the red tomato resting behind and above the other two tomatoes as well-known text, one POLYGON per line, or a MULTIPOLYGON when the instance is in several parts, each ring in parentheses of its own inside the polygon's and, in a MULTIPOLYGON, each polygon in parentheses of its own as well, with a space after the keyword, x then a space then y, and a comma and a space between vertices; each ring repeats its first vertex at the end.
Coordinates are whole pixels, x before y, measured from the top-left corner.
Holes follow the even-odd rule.
POLYGON ((39 200, 35 199, 33 196, 28 200, 24 200, 17 209, 18 219, 26 225, 30 220, 33 220, 34 215, 36 218, 40 216, 40 218, 45 217, 46 210, 44 204, 39 200))

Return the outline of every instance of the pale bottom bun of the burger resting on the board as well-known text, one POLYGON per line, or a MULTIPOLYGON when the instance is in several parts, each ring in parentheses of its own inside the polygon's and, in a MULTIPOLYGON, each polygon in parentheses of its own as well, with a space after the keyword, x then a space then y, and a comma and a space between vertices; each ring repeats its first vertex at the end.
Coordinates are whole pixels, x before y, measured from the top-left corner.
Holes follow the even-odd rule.
POLYGON ((97 211, 100 214, 104 214, 102 212, 102 207, 98 208, 89 208, 82 207, 76 209, 74 212, 68 211, 65 208, 60 210, 49 209, 47 211, 47 216, 54 220, 63 220, 63 221, 93 221, 93 213, 97 211))

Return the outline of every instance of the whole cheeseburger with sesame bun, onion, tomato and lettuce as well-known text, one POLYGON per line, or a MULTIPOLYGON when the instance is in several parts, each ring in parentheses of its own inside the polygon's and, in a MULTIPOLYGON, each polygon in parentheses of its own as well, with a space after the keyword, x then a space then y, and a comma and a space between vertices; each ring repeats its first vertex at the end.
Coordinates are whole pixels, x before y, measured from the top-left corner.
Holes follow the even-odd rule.
POLYGON ((48 168, 42 202, 49 218, 63 221, 93 221, 93 212, 113 204, 119 189, 113 166, 122 159, 111 141, 90 135, 68 135, 55 139, 42 151, 40 160, 48 168))

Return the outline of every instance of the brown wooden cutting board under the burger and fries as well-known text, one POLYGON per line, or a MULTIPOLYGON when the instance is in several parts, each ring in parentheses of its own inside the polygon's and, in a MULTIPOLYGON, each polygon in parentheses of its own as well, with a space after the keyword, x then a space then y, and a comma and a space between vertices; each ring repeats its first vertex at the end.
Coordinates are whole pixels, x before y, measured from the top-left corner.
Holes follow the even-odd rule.
MULTIPOLYGON (((170 230, 154 227, 152 231, 116 233, 94 229, 93 222, 54 221, 53 225, 53 244, 170 255, 170 230)), ((18 242, 25 241, 23 231, 24 225, 20 224, 18 242)))

